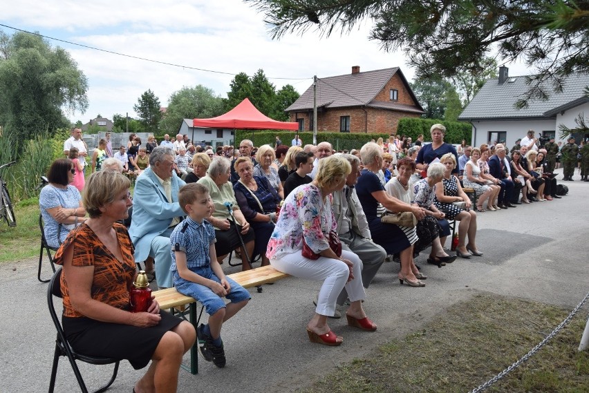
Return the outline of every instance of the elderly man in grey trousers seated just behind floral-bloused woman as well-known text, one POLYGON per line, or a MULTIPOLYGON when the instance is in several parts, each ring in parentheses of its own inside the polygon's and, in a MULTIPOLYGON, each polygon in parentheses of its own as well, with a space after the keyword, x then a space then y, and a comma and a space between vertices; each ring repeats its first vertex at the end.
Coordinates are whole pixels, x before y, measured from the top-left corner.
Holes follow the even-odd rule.
MULTIPOLYGON (((337 220, 337 236, 342 241, 343 249, 352 251, 362 260, 362 284, 364 288, 368 288, 386 258, 386 251, 371 240, 366 215, 364 215, 364 210, 356 195, 354 185, 360 177, 360 160, 351 154, 343 154, 342 156, 350 162, 352 171, 346 178, 344 189, 333 193, 333 213, 337 220)), ((337 298, 337 304, 343 305, 347 298, 348 294, 344 288, 337 298)))

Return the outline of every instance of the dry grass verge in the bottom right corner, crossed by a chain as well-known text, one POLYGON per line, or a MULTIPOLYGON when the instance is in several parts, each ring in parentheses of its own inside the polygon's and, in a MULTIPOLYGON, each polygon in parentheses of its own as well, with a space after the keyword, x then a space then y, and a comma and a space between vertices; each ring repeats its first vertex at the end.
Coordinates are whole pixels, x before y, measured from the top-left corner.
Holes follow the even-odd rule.
MULTIPOLYGON (((476 295, 419 332, 386 343, 299 392, 469 392, 527 354, 569 312, 476 295)), ((589 392, 589 354, 577 352, 586 316, 579 311, 539 352, 486 392, 589 392)))

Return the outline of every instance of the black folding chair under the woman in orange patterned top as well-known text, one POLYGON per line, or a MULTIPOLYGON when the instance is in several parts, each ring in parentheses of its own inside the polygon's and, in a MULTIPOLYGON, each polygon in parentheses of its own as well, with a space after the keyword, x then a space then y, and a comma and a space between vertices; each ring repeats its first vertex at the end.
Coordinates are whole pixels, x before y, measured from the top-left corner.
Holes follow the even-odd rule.
POLYGON ((100 358, 95 356, 88 356, 84 354, 77 354, 74 352, 72 347, 69 345, 68 341, 66 340, 66 335, 64 334, 64 329, 62 328, 62 323, 55 312, 55 306, 53 305, 53 296, 57 296, 58 298, 62 297, 62 289, 59 286, 59 278, 62 276, 62 269, 53 274, 49 282, 49 287, 47 288, 47 305, 49 307, 49 314, 51 314, 51 318, 53 319, 53 324, 55 325, 55 329, 57 329, 57 339, 55 340, 55 354, 53 355, 53 367, 51 368, 51 381, 49 383, 49 393, 53 393, 53 389, 55 388, 55 376, 57 376, 57 364, 59 363, 60 356, 66 356, 70 361, 70 365, 72 366, 73 372, 77 379, 77 383, 80 385, 80 389, 83 393, 88 393, 88 389, 86 388, 86 384, 84 383, 84 379, 82 378, 82 374, 80 374, 80 369, 77 367, 76 361, 83 361, 86 363, 90 363, 93 365, 107 365, 107 364, 115 364, 113 370, 113 376, 109 383, 100 387, 100 389, 95 390, 94 393, 100 393, 107 390, 115 381, 117 377, 117 372, 119 370, 119 363, 118 359, 113 358, 100 358))

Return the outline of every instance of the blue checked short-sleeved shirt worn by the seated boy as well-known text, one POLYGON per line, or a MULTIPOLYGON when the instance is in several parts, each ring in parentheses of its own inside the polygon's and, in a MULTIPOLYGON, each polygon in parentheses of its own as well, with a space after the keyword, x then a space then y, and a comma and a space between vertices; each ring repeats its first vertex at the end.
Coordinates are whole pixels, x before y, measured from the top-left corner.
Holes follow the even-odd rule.
POLYGON ((209 247, 214 242, 216 242, 215 229, 207 220, 203 220, 202 224, 198 224, 198 222, 187 217, 183 222, 176 225, 170 235, 172 255, 170 270, 178 270, 174 251, 183 251, 186 254, 188 269, 209 266, 211 264, 209 247))

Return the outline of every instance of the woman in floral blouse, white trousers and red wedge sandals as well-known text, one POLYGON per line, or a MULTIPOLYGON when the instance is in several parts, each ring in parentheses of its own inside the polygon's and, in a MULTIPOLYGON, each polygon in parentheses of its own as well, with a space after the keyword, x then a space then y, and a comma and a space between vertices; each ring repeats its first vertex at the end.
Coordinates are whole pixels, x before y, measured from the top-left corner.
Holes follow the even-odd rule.
POLYGON ((362 261, 355 253, 342 250, 341 244, 338 255, 335 247, 339 239, 332 193, 344 188, 351 170, 348 160, 339 155, 321 160, 315 180, 298 186, 286 197, 268 242, 266 255, 275 269, 295 277, 324 281, 317 297, 315 316, 307 324, 312 343, 341 345, 344 341, 327 325, 327 317, 335 314, 337 296, 344 287, 350 299, 346 312, 348 325, 368 332, 376 330, 376 324, 362 309, 362 301, 366 298, 362 261), (334 232, 335 238, 331 235, 334 232), (310 253, 317 256, 317 260, 303 256, 310 256, 310 253))

